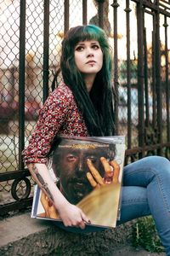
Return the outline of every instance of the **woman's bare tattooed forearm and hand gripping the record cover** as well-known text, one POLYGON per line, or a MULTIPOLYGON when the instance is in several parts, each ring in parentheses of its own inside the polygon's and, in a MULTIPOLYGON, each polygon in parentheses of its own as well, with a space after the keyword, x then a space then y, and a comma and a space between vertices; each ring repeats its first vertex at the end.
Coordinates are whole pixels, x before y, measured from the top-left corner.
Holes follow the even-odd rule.
POLYGON ((87 216, 80 208, 65 199, 65 196, 62 195, 50 176, 48 167, 41 163, 31 163, 27 166, 38 186, 48 196, 48 199, 53 202, 65 226, 78 226, 84 229, 85 223, 89 222, 87 216))

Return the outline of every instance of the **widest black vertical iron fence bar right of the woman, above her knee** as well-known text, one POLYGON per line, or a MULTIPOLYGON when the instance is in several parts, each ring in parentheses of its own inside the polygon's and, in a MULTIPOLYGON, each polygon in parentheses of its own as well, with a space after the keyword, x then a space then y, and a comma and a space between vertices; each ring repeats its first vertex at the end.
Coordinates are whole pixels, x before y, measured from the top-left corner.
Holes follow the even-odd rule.
MULTIPOLYGON (((138 103, 139 103, 139 147, 144 146, 144 12, 142 2, 137 4, 138 25, 138 103)), ((143 157, 144 155, 140 155, 143 157)))

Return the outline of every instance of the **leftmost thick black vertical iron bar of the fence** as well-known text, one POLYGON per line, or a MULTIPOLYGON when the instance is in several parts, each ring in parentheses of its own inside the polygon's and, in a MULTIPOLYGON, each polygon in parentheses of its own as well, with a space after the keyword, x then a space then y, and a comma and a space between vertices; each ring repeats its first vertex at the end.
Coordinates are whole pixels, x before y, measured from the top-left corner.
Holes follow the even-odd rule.
POLYGON ((19 169, 24 169, 22 150, 25 148, 25 55, 26 55, 26 0, 20 1, 20 56, 19 56, 19 169))

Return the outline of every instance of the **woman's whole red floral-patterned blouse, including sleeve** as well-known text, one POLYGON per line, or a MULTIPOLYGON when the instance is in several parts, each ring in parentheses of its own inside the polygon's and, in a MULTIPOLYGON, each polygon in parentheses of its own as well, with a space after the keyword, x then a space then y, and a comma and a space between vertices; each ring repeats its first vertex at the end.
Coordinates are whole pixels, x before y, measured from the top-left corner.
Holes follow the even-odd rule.
POLYGON ((54 137, 59 135, 88 136, 88 129, 79 112, 71 90, 61 84, 44 103, 39 113, 37 127, 28 147, 23 151, 28 163, 46 163, 54 137))

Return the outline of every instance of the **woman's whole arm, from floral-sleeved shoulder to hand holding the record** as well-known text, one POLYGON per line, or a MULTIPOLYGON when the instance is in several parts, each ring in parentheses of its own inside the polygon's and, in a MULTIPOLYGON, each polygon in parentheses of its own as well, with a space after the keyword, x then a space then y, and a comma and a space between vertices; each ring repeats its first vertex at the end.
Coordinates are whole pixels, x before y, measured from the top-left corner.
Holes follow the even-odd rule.
POLYGON ((83 229, 84 222, 87 222, 88 218, 81 209, 71 205, 65 199, 46 166, 51 144, 59 133, 60 127, 65 124, 71 102, 71 93, 67 93, 64 88, 58 88, 48 96, 39 113, 36 129, 23 155, 32 177, 48 199, 53 202, 65 226, 79 226, 83 229))

